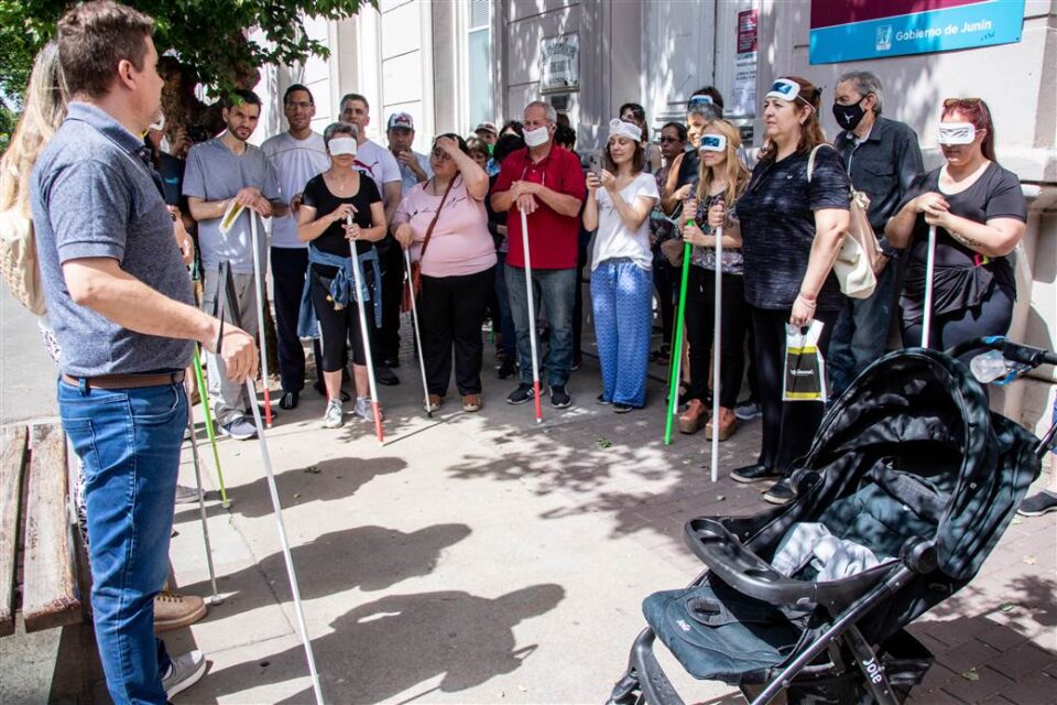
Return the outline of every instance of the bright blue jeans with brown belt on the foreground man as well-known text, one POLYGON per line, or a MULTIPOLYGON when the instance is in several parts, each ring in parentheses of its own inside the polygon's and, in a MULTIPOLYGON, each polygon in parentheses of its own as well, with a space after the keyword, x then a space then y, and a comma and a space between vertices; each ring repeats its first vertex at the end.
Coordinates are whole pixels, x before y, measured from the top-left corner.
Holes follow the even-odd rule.
POLYGON ((85 473, 91 608, 107 688, 118 705, 164 704, 164 646, 154 596, 168 573, 179 448, 181 384, 96 389, 58 382, 63 430, 85 473))

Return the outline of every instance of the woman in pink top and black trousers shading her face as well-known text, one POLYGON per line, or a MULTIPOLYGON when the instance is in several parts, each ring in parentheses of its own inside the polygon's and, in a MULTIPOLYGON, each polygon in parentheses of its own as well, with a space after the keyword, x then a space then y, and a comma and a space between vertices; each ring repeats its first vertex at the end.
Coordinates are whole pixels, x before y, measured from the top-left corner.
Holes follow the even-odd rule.
POLYGON ((451 378, 464 411, 481 408, 481 324, 494 286, 495 245, 488 232, 488 175, 466 141, 442 134, 429 154, 433 178, 404 195, 393 216, 393 237, 422 264, 418 323, 429 408, 444 402, 451 378))

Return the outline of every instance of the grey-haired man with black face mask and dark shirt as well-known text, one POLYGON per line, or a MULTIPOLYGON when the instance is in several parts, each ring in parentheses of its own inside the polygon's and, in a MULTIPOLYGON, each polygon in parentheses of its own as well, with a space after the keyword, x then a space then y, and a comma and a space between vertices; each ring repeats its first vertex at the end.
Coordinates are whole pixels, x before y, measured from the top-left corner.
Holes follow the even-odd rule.
POLYGON ((835 397, 884 352, 900 257, 900 250, 884 237, 884 225, 898 210, 911 182, 924 171, 917 134, 903 122, 881 117, 881 82, 873 74, 851 72, 837 82, 833 117, 843 129, 833 147, 844 158, 852 186, 870 198, 870 225, 884 256, 873 295, 846 299, 833 326, 827 365, 835 397))

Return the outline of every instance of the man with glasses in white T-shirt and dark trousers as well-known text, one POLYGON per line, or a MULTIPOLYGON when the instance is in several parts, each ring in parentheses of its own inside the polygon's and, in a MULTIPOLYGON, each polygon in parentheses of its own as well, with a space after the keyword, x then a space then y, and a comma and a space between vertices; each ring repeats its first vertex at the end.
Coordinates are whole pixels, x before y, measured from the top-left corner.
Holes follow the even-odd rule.
MULTIPOLYGON (((271 253, 279 376, 283 384, 279 405, 293 409, 305 387, 305 350, 297 337, 297 314, 308 271, 308 243, 297 237, 296 212, 305 184, 330 166, 330 156, 323 135, 312 129, 316 101, 306 86, 294 84, 286 89, 283 112, 290 130, 266 140, 261 150, 275 171, 283 202, 290 205, 290 213, 272 218, 271 253)), ((316 360, 320 359, 323 354, 316 338, 316 360)), ((316 371, 319 373, 318 366, 316 371)), ((322 377, 316 389, 323 390, 322 377)))

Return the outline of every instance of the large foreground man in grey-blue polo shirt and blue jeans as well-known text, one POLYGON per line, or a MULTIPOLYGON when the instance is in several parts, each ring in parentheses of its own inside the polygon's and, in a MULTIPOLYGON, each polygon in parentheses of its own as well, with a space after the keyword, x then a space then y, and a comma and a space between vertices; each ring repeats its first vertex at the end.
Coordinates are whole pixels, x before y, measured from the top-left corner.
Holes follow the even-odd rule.
MULTIPOLYGON (((182 384, 192 340, 220 325, 190 305, 161 176, 142 135, 162 79, 144 14, 88 2, 58 23, 70 93, 62 127, 31 176, 48 318, 62 346, 58 409, 85 474, 91 606, 115 703, 165 703, 205 672, 198 651, 170 659, 154 638, 154 596, 168 540, 187 425, 182 384)), ((257 372, 253 339, 224 330, 235 382, 257 372)))

